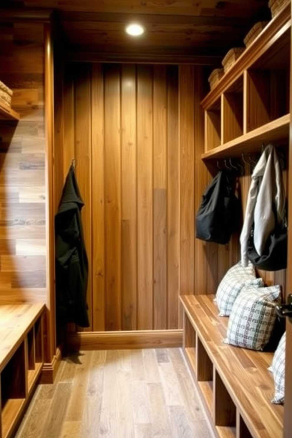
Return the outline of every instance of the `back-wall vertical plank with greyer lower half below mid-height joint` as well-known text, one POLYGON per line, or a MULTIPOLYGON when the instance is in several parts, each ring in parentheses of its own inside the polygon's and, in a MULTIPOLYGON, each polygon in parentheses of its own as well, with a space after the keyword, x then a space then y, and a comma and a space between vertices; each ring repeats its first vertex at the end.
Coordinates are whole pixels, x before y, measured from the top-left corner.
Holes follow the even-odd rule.
POLYGON ((153 71, 153 327, 167 327, 167 125, 166 69, 153 71))

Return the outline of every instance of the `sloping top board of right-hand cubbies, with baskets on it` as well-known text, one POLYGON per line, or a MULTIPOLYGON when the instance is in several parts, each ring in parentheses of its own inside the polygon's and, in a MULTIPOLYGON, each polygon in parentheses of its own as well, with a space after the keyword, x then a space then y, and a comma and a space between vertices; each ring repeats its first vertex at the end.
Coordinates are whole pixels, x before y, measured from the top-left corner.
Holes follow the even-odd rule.
MULTIPOLYGON (((247 47, 236 63, 220 79, 218 84, 202 100, 204 109, 210 108, 239 77, 243 71, 251 67, 291 26, 291 5, 288 4, 279 14, 274 17, 247 47)), ((287 32, 286 32, 287 34, 287 32)))

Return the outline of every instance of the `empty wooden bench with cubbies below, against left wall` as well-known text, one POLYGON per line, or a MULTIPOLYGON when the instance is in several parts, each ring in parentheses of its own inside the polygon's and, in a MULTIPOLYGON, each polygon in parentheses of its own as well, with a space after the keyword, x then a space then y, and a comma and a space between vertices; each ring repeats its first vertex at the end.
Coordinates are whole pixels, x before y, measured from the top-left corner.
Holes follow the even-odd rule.
POLYGON ((0 438, 9 438, 44 361, 44 304, 0 305, 0 438))

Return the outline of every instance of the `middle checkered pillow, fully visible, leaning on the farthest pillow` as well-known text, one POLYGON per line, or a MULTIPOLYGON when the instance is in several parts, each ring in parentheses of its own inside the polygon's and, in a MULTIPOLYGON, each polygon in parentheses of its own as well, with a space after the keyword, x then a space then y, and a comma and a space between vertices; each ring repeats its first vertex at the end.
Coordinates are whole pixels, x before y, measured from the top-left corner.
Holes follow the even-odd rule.
POLYGON ((281 287, 246 287, 236 298, 227 327, 225 343, 251 350, 263 350, 276 320, 281 287))

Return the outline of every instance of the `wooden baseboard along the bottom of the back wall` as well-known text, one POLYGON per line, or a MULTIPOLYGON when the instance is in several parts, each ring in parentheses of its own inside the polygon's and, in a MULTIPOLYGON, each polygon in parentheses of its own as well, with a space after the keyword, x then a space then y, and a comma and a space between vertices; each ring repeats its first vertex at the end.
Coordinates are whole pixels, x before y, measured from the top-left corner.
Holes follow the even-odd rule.
POLYGON ((129 350, 183 345, 183 330, 77 332, 67 335, 68 350, 129 350))

